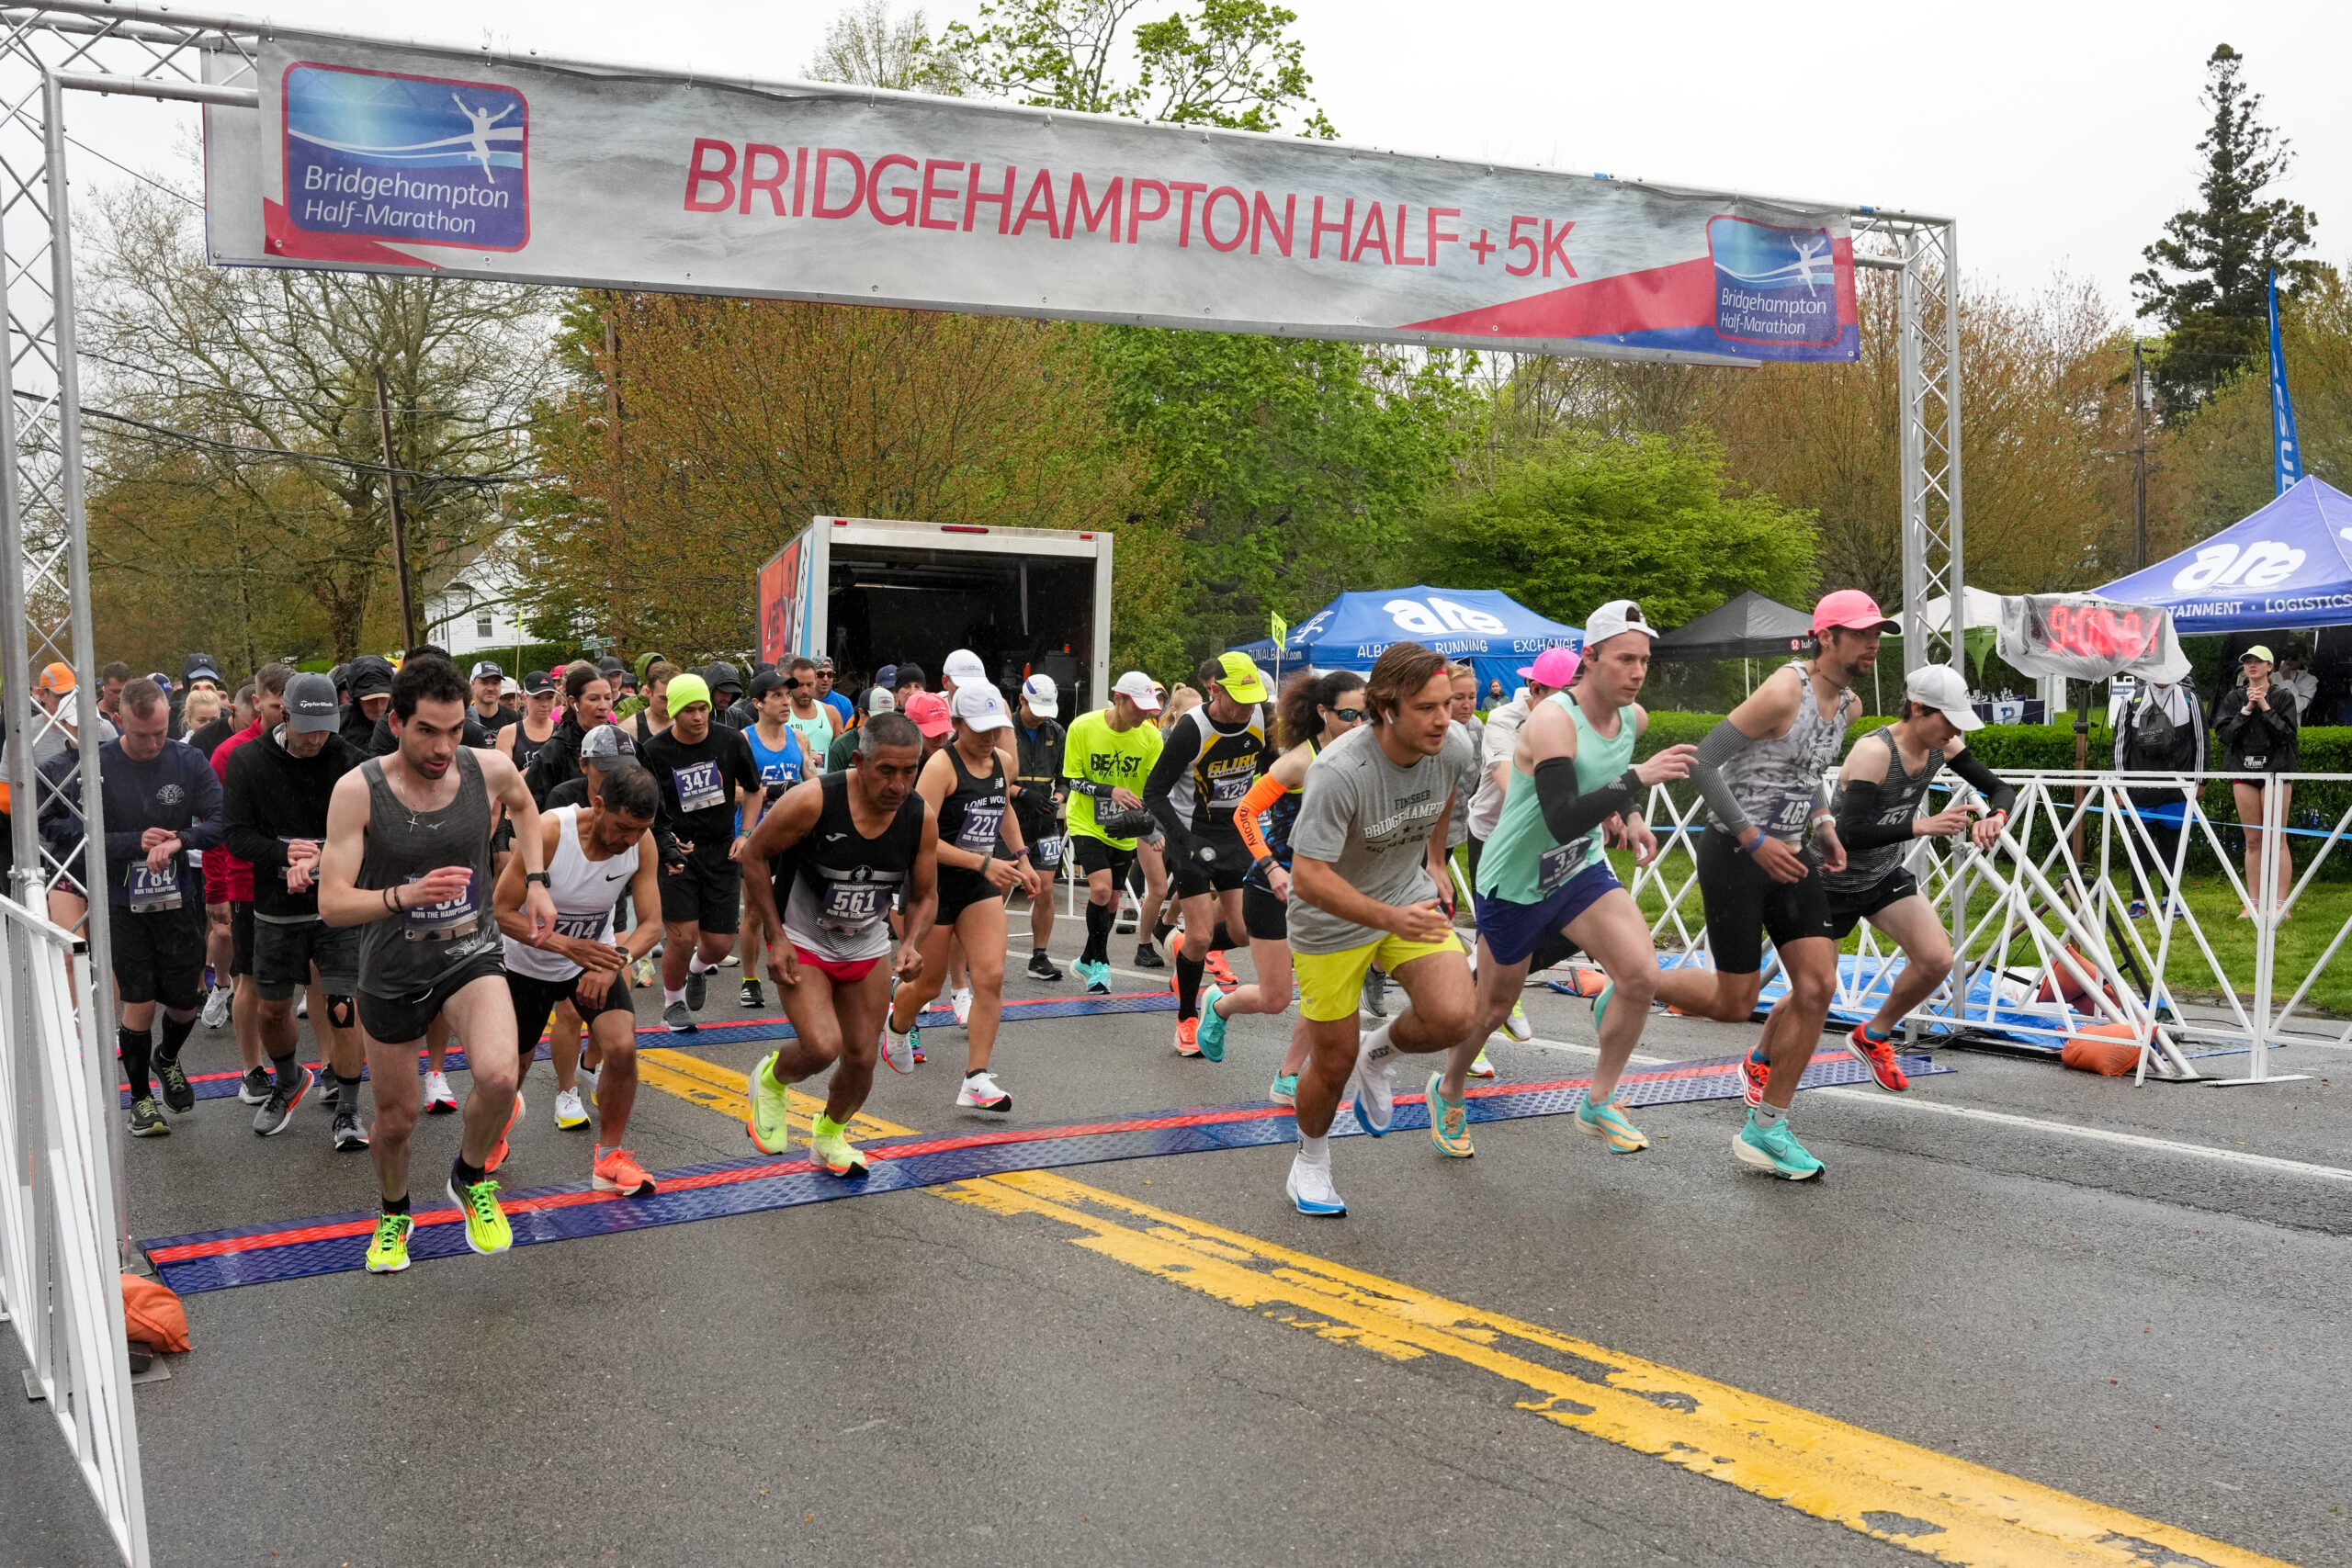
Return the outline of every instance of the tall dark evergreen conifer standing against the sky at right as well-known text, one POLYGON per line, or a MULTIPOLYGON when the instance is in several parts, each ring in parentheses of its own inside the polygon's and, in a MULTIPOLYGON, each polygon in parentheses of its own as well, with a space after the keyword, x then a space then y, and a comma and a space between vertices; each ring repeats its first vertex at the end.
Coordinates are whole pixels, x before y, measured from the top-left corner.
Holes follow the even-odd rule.
POLYGON ((2164 223, 2164 237, 2143 252, 2147 268, 2131 277, 2140 315, 2164 322, 2154 378, 2176 411, 2194 409, 2263 357, 2270 270, 2279 268, 2296 287, 2314 273, 2310 261, 2296 261, 2312 244, 2312 214, 2263 195, 2286 174, 2293 150, 2256 118, 2263 94, 2239 80, 2244 61, 2230 45, 2206 61, 2204 101, 2213 120, 2197 141, 2199 205, 2164 223))

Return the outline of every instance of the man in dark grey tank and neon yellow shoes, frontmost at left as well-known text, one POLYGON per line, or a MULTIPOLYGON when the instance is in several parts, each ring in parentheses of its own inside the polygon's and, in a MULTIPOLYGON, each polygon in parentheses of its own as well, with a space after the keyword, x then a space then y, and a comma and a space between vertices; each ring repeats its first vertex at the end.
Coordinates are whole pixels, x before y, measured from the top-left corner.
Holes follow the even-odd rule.
MULTIPOLYGON (((447 658, 412 658, 393 677, 388 757, 343 773, 327 804, 318 912, 360 926, 360 1027, 376 1088, 372 1152, 383 1211, 367 1248, 372 1274, 409 1267, 409 1133, 416 1126, 416 1046, 447 1016, 466 1041, 473 1093, 449 1166, 449 1201, 466 1246, 503 1253, 515 1234, 499 1208, 515 1093, 515 1009, 492 917, 489 820, 503 806, 522 856, 529 940, 555 931, 541 858, 539 806, 501 752, 461 748, 466 679, 447 658)), ((536 1041, 534 1041, 536 1044, 536 1041)))

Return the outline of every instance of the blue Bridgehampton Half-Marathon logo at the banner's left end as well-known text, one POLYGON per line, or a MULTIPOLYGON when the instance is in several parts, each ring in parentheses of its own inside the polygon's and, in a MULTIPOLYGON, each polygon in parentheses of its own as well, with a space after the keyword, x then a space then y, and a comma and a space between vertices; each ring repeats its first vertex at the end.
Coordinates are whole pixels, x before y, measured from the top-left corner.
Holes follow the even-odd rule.
POLYGON ((532 237, 529 106, 513 87, 287 66, 287 216, 318 235, 515 252, 532 237))

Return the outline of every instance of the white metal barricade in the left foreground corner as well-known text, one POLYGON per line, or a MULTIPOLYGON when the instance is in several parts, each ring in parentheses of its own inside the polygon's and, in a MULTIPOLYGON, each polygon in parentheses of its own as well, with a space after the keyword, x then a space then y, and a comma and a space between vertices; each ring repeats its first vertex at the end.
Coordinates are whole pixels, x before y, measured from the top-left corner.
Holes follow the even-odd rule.
POLYGON ((127 1563, 148 1561, 139 1490, 115 1182, 106 1168, 115 1063, 99 1034, 89 952, 0 898, 0 1307, 127 1563))

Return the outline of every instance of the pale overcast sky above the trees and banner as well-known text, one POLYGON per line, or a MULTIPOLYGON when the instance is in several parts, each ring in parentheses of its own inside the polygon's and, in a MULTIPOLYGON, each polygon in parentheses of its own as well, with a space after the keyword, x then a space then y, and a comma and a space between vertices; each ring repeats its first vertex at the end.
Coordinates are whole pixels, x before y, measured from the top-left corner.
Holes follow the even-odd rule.
MULTIPOLYGON (((1952 214, 1966 280, 2039 289, 2067 273, 2096 282, 2117 317, 2131 313, 2140 247, 2194 200, 2204 61, 2230 42, 2249 56, 2263 115, 2296 143, 2281 190, 2319 216, 2319 256, 2352 259, 2343 0, 1978 0, 1811 12, 1820 21, 1715 0, 1289 5, 1315 94, 1348 141, 1952 214)), ((266 0, 252 14, 350 28, 358 9, 266 0)), ((974 9, 950 0, 929 19, 974 9)), ((1155 9, 1145 0, 1141 14, 1155 9)), ((835 12, 826 0, 407 0, 383 26, 426 42, 492 35, 515 52, 795 78, 835 12)), ((181 122, 191 110, 75 103, 82 139, 139 167, 172 165, 181 122)), ((120 179, 78 162, 78 179, 120 179)))

